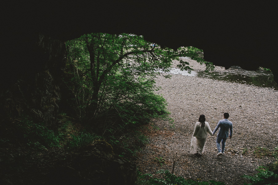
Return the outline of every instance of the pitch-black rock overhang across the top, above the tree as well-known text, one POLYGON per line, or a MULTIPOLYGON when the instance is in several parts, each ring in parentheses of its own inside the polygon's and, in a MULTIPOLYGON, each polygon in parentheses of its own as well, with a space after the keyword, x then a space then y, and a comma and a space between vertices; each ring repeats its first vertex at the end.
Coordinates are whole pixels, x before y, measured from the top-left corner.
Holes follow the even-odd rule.
POLYGON ((7 1, 2 8, 2 81, 41 70, 39 33, 66 41, 92 32, 134 33, 173 49, 195 46, 215 65, 263 66, 278 81, 274 1, 7 1))

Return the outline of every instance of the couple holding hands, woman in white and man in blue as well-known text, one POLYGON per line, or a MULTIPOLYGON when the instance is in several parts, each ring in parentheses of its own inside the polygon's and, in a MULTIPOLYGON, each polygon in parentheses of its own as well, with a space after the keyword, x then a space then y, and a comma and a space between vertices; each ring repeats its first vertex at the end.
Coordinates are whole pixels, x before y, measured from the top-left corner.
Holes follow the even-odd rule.
POLYGON ((228 117, 229 113, 225 112, 224 119, 218 122, 217 126, 212 132, 208 122, 206 122, 205 115, 201 114, 199 120, 195 124, 195 129, 191 138, 190 153, 203 155, 205 151, 207 134, 209 134, 210 136, 214 136, 215 132, 218 130, 218 128, 220 128, 216 138, 216 147, 218 150, 217 156, 222 155, 225 150, 226 140, 228 137, 230 139, 232 138, 233 132, 233 124, 231 121, 228 120, 228 117), (220 146, 220 142, 222 143, 222 148, 220 146))

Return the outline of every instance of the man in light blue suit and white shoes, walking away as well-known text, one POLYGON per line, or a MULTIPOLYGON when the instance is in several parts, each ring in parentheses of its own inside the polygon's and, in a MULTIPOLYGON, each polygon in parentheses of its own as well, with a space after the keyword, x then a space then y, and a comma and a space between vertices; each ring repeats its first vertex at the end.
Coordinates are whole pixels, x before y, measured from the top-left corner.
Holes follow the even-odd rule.
POLYGON ((218 154, 216 156, 222 155, 224 153, 225 150, 225 143, 226 140, 229 136, 229 129, 230 129, 230 136, 229 138, 232 138, 232 133, 233 133, 233 124, 231 121, 228 120, 229 117, 229 113, 225 112, 224 113, 224 119, 220 120, 216 126, 216 128, 214 129, 214 131, 212 132, 212 134, 214 135, 214 133, 217 131, 217 129, 220 127, 219 132, 217 134, 217 138, 216 138, 216 147, 218 150, 218 154), (220 142, 222 142, 222 150, 220 148, 220 142))

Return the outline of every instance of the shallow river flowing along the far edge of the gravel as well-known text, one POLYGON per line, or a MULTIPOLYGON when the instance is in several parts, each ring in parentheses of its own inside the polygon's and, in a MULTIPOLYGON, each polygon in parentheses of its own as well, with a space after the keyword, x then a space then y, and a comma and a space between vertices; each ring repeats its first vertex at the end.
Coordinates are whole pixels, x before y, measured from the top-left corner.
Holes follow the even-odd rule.
POLYGON ((268 71, 248 71, 242 69, 240 66, 232 66, 222 72, 209 72, 203 71, 181 71, 180 69, 172 68, 170 74, 179 74, 183 76, 197 76, 203 78, 217 79, 222 81, 231 81, 241 84, 255 85, 258 87, 267 87, 278 90, 278 85, 273 79, 272 72, 268 71))

